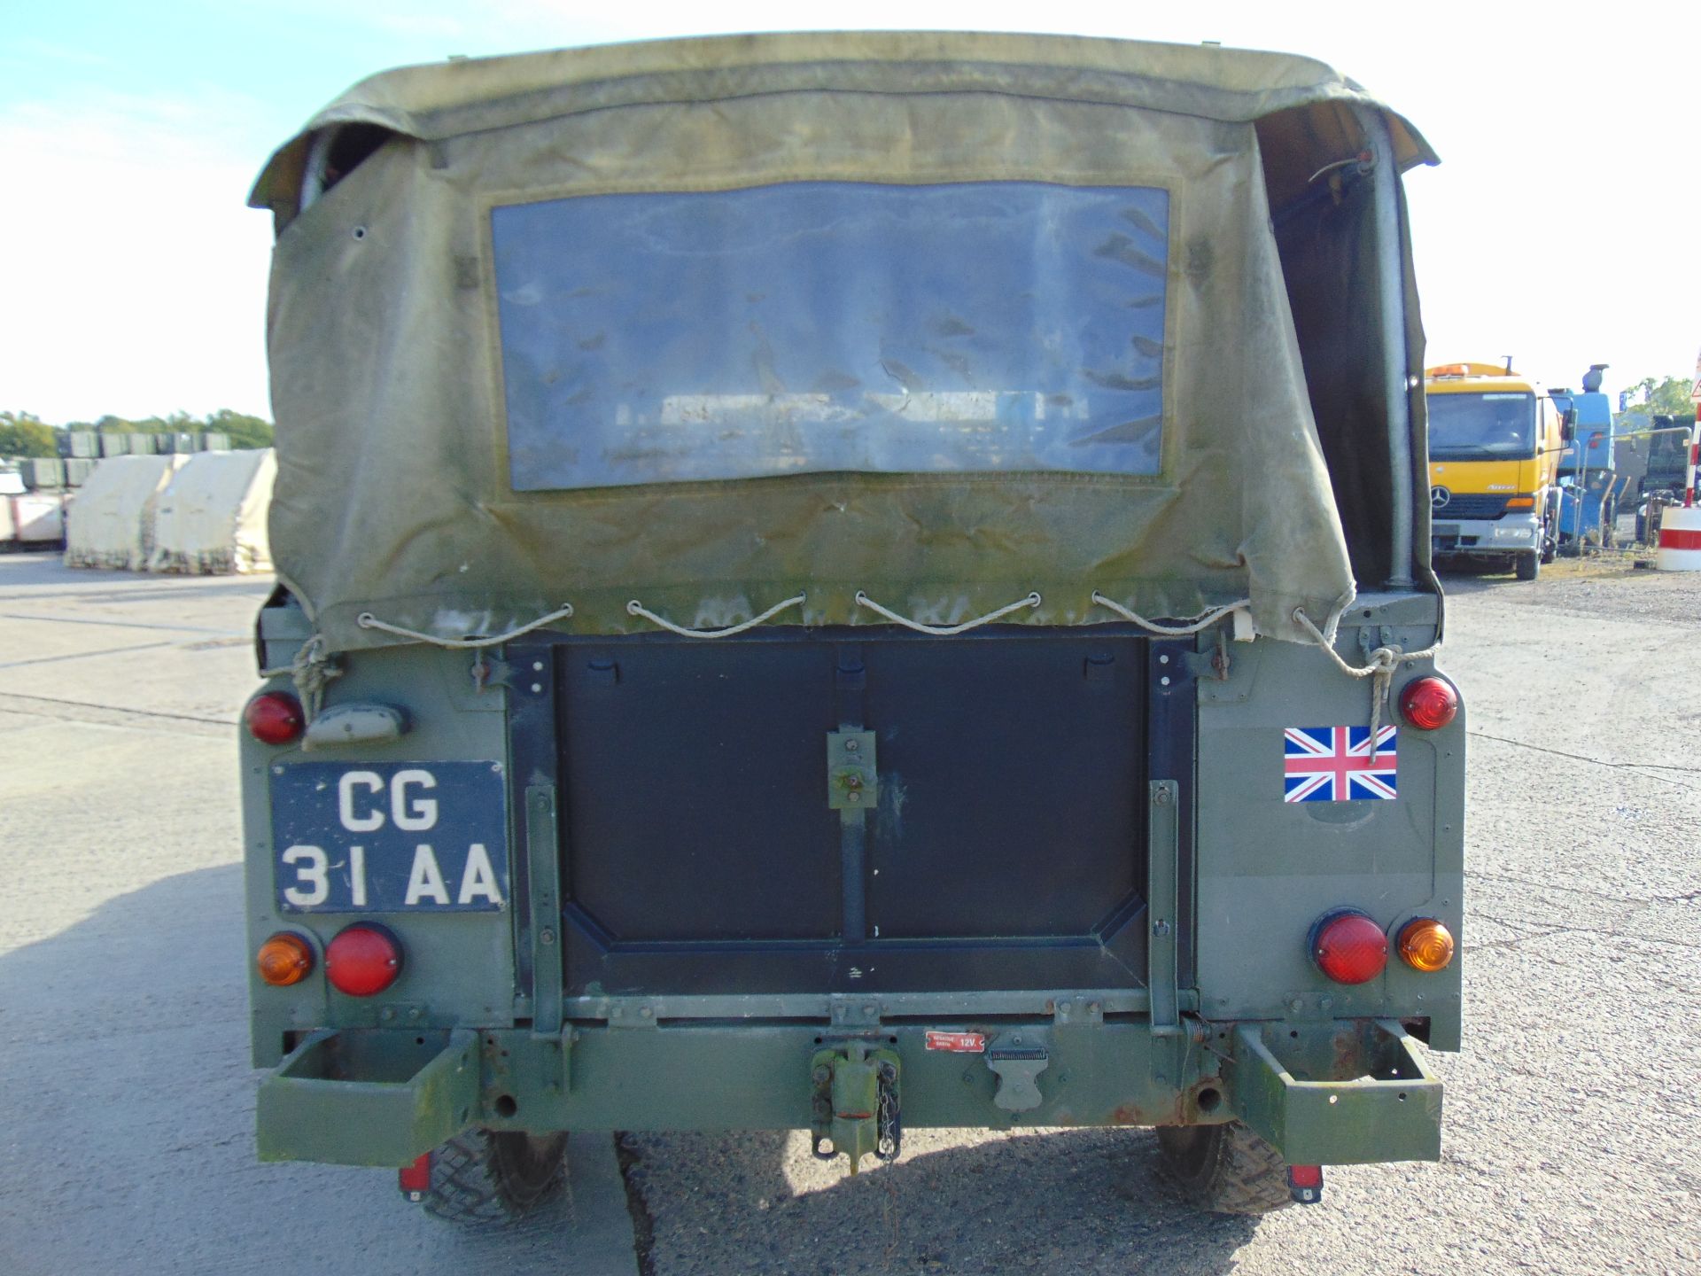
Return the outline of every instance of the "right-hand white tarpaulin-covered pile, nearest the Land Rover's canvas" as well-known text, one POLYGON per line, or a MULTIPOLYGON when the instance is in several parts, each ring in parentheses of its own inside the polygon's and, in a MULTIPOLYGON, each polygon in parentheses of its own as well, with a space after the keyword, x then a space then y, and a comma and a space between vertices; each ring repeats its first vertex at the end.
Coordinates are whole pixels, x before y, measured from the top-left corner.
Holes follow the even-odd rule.
POLYGON ((265 517, 277 459, 262 451, 196 453, 160 497, 151 572, 270 572, 265 517))

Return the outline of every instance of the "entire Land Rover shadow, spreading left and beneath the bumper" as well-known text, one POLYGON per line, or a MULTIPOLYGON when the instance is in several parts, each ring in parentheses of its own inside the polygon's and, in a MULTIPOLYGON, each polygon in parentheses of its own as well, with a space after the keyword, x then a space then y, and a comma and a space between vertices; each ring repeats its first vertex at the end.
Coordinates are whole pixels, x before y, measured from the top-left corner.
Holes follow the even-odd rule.
MULTIPOLYGON (((95 873, 66 866, 61 885, 95 873)), ((0 912, 0 946, 31 915, 22 898, 0 912)), ((609 1244, 629 1205, 645 1276, 1221 1273, 1254 1237, 1252 1220, 1182 1203, 1148 1130, 912 1130, 896 1164, 857 1177, 799 1133, 628 1135, 626 1199, 570 1191, 517 1227, 461 1230, 405 1203, 393 1171, 255 1159, 242 919, 240 868, 221 864, 0 953, 0 1220, 31 1220, 10 1230, 9 1273, 228 1273, 289 1254, 294 1276, 629 1276, 631 1249, 609 1244)))

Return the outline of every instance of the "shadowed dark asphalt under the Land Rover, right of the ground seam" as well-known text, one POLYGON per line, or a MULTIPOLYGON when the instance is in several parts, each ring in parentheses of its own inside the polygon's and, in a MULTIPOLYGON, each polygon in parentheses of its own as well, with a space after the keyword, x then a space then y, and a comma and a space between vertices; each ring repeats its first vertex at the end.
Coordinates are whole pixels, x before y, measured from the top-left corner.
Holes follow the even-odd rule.
POLYGON ((1223 1273, 1257 1230, 1182 1201, 1150 1130, 908 1131, 898 1162, 856 1177, 815 1162, 803 1133, 623 1148, 653 1276, 1223 1273))

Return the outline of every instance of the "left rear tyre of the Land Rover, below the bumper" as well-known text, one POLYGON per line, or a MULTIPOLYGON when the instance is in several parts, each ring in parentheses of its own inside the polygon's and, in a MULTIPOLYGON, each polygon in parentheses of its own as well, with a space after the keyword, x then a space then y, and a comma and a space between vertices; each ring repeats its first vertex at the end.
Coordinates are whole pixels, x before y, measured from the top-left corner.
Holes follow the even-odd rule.
POLYGON ((468 1130, 430 1157, 425 1213, 502 1227, 561 1189, 566 1135, 468 1130))

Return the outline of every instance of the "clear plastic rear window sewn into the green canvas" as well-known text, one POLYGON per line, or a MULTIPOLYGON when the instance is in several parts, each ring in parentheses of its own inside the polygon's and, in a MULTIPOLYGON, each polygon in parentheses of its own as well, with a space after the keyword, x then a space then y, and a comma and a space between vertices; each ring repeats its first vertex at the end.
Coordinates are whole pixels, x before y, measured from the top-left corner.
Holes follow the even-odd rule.
POLYGON ((490 231, 515 490, 1160 471, 1167 191, 793 182, 490 231))

